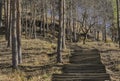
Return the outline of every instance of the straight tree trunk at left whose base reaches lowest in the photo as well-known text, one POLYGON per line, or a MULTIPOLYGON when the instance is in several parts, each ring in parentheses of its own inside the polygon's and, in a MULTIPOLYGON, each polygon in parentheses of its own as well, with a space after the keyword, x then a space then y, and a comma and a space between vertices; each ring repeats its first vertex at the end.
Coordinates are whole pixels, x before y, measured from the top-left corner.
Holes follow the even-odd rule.
POLYGON ((12 67, 18 69, 16 0, 12 0, 12 67))

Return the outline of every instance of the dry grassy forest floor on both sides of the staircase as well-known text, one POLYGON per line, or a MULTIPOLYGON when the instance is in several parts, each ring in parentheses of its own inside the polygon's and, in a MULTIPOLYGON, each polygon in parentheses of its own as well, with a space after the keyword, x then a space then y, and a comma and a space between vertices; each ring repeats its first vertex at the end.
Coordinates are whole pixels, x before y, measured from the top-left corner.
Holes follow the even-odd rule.
MULTIPOLYGON (((56 66, 56 42, 53 39, 22 39, 23 63, 20 71, 12 72, 11 49, 0 36, 0 81, 51 81, 53 73, 61 73, 56 66)), ((74 49, 97 48, 101 51, 101 58, 106 65, 107 72, 114 81, 120 81, 120 50, 114 43, 87 42, 67 44, 62 52, 63 63, 68 63, 70 51, 74 49)))

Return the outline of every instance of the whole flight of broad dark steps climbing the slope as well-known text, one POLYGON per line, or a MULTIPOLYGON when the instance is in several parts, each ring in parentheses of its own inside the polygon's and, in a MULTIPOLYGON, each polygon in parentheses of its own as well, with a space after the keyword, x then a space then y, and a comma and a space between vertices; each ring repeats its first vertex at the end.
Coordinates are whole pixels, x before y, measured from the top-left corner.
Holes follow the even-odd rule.
POLYGON ((75 50, 70 64, 63 65, 62 71, 62 74, 53 74, 52 81, 111 81, 96 49, 75 50))

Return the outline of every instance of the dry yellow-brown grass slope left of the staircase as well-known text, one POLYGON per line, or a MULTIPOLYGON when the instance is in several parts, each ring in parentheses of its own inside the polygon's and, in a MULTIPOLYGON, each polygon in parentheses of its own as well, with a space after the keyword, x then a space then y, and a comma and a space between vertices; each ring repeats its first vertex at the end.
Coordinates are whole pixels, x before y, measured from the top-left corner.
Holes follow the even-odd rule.
POLYGON ((40 39, 23 39, 23 63, 20 71, 12 72, 11 49, 0 37, 0 81, 51 81, 52 73, 60 72, 56 64, 56 44, 40 39))

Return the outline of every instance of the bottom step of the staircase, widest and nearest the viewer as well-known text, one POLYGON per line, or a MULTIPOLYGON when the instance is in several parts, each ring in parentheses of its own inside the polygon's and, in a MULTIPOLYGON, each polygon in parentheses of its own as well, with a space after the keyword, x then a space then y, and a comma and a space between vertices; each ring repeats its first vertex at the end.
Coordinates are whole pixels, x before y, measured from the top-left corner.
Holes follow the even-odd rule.
POLYGON ((52 81, 104 81, 109 79, 106 73, 64 73, 53 74, 52 81))

